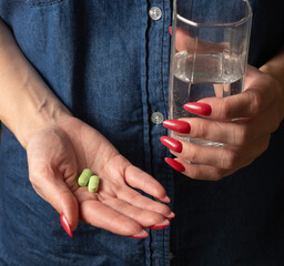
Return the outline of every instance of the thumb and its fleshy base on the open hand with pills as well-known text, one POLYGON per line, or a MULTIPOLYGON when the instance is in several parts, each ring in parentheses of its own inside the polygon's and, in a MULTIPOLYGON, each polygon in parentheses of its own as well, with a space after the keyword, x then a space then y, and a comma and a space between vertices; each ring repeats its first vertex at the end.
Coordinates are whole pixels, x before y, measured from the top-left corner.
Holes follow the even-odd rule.
POLYGON ((29 177, 36 192, 61 215, 70 236, 79 221, 78 201, 71 188, 77 184, 77 161, 69 139, 49 127, 30 139, 27 145, 29 177))

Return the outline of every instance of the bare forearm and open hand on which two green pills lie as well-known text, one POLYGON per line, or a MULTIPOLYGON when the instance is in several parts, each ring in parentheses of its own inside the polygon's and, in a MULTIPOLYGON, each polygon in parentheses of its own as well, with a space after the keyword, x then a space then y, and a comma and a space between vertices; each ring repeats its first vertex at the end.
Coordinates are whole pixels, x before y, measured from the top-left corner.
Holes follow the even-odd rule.
POLYGON ((98 131, 75 119, 21 53, 0 20, 0 120, 27 150, 34 191, 74 231, 79 218, 115 234, 141 238, 144 228, 173 217, 164 188, 133 166, 98 131), (100 176, 99 193, 79 187, 84 168, 100 176))

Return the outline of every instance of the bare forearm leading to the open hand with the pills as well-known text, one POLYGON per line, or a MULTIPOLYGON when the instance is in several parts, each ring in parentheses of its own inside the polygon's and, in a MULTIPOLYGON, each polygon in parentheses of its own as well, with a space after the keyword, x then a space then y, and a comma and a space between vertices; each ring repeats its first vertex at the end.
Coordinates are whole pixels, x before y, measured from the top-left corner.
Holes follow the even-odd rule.
POLYGON ((50 91, 0 19, 0 120, 26 147, 47 123, 69 111, 50 91))

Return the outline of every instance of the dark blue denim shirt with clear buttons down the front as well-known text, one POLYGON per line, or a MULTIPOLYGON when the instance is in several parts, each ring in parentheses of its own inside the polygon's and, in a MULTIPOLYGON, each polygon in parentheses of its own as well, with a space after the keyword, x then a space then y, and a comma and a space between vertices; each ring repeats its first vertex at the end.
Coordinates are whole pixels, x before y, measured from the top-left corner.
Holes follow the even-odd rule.
MULTIPOLYGON (((207 0, 210 1, 210 0, 207 0)), ((283 0, 252 0, 250 63, 284 43, 283 0)), ((106 136, 172 198, 171 227, 132 239, 80 223, 74 237, 33 191, 26 151, 3 126, 0 265, 284 265, 284 129, 250 166, 220 182, 165 165, 171 0, 0 0, 0 17, 74 116, 106 136), (149 16, 158 7, 162 17, 149 16)))

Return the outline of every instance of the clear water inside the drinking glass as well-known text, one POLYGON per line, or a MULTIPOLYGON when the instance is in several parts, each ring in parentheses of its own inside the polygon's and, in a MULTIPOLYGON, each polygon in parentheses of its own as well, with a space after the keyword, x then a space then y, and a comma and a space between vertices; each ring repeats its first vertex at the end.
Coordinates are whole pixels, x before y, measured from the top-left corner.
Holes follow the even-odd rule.
MULTIPOLYGON (((243 91, 244 55, 223 52, 187 55, 186 52, 175 54, 173 62, 172 95, 170 96, 170 119, 196 117, 183 109, 187 102, 196 102, 203 98, 225 98, 243 91)), ((172 136, 179 136, 171 132, 172 136)), ((222 145, 204 140, 182 137, 201 145, 222 145)))

